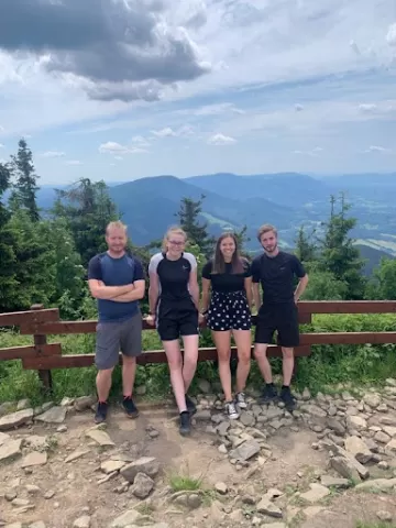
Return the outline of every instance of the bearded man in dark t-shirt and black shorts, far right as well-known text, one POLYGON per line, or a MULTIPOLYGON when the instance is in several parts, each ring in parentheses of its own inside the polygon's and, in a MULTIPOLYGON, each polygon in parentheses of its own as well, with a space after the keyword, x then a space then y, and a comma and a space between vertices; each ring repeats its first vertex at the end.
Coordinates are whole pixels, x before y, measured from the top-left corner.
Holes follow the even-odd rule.
POLYGON ((308 284, 308 275, 296 255, 280 251, 277 245, 277 231, 273 226, 262 226, 257 239, 264 253, 252 263, 253 298, 257 312, 257 324, 254 339, 254 355, 265 380, 262 403, 277 399, 273 384, 272 370, 266 351, 277 331, 278 343, 283 352, 283 387, 280 399, 288 410, 296 406, 290 393, 294 370, 294 348, 299 344, 297 302, 308 284), (294 288, 295 277, 299 278, 294 288), (263 288, 263 301, 260 295, 263 288))

